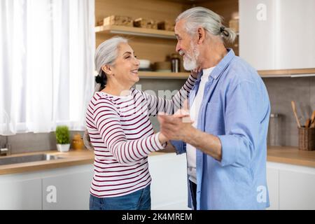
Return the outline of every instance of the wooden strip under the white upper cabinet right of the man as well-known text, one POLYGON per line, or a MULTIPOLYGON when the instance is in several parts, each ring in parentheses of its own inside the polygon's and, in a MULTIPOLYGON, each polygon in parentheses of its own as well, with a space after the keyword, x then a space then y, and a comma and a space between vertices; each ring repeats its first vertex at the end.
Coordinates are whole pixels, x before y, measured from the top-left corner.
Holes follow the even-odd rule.
POLYGON ((268 77, 303 77, 315 76, 315 68, 311 69, 279 69, 258 71, 262 78, 268 77))

